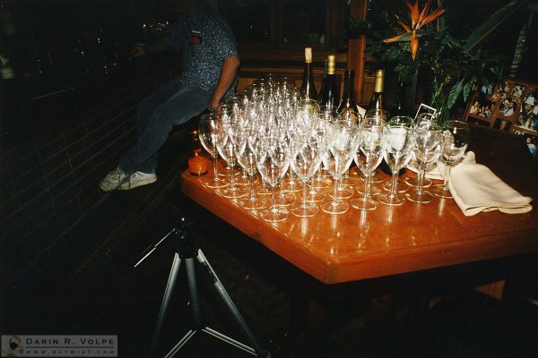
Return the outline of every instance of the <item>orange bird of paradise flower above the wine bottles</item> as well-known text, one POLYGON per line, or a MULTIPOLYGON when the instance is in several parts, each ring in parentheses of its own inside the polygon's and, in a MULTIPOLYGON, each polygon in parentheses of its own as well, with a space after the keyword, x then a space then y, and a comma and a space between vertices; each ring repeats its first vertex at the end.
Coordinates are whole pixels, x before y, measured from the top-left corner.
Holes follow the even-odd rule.
POLYGON ((395 14, 396 20, 400 22, 400 25, 404 28, 405 32, 399 35, 396 35, 392 38, 386 38, 383 42, 396 42, 396 41, 407 41, 411 39, 411 56, 414 61, 417 51, 419 49, 419 30, 421 27, 430 23, 431 21, 436 20, 442 13, 445 13, 445 9, 438 7, 433 13, 428 13, 430 11, 431 0, 424 5, 422 11, 419 11, 419 0, 416 0, 415 4, 405 2, 411 13, 411 27, 406 25, 404 21, 400 19, 398 15, 395 14))

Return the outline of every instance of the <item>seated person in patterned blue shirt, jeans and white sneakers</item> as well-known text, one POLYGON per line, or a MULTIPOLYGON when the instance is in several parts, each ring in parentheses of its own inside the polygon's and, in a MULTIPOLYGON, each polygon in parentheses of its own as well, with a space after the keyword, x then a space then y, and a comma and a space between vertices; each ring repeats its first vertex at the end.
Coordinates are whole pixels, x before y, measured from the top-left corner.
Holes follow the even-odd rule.
POLYGON ((202 0, 174 0, 181 17, 168 38, 135 47, 133 56, 174 47, 183 53, 183 72, 138 105, 138 141, 100 181, 104 192, 129 190, 157 181, 157 151, 174 125, 218 107, 233 94, 239 56, 230 26, 202 0))

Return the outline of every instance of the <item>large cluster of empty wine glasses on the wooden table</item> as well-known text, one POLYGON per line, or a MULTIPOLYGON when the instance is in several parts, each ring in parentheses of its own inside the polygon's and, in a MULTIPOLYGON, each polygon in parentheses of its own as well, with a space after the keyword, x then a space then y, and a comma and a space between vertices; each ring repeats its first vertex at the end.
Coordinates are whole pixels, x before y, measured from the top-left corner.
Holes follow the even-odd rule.
POLYGON ((434 116, 415 123, 383 111, 367 111, 364 117, 349 108, 336 113, 306 98, 294 81, 268 75, 204 115, 199 135, 213 158, 213 175, 204 184, 264 220, 278 222, 320 210, 342 214, 350 208, 376 209, 379 203, 425 203, 433 194, 450 198, 450 167, 464 154, 469 128, 459 121, 438 125, 434 116), (399 171, 412 158, 419 168, 416 180, 398 184, 399 171), (376 180, 383 159, 392 173, 386 190, 376 180), (425 173, 438 160, 447 171, 432 194, 425 173), (351 178, 353 162, 360 179, 351 178), (398 186, 410 189, 404 193, 398 186))

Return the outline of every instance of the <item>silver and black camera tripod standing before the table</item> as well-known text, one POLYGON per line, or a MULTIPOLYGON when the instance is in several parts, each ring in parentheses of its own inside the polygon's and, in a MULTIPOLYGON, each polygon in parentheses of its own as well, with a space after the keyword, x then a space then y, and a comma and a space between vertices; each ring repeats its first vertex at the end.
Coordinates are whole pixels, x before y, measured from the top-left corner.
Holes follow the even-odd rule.
POLYGON ((159 311, 157 322, 155 324, 155 329, 153 331, 152 347, 149 357, 155 357, 155 350, 157 344, 159 343, 159 337, 161 335, 162 322, 166 316, 166 312, 168 311, 173 288, 176 285, 176 280, 178 278, 179 267, 181 265, 181 261, 183 260, 185 262, 185 268, 187 273, 187 286, 190 297, 190 307, 193 313, 194 327, 190 328, 187 331, 187 334, 179 340, 178 344, 176 344, 169 351, 168 354, 165 355, 165 358, 171 358, 174 356, 174 354, 178 353, 181 347, 187 344, 188 340, 191 337, 194 337, 196 333, 205 333, 212 337, 221 339, 222 341, 230 345, 234 345, 235 347, 247 352, 248 354, 270 358, 271 354, 265 351, 261 347, 261 345, 259 345, 256 337, 254 336, 254 333, 252 332, 252 330, 250 330, 250 328, 248 328, 247 321, 243 318, 243 316, 241 316, 241 313, 239 312, 235 303, 233 303, 233 301, 231 300, 230 295, 226 292, 224 286, 222 286, 221 280, 219 279, 219 277, 217 277, 215 271, 205 258, 204 252, 202 252, 202 250, 190 238, 190 235, 188 235, 187 229, 191 225, 192 223, 187 223, 186 219, 182 217, 181 226, 179 226, 179 228, 173 228, 161 239, 159 243, 156 243, 152 248, 149 248, 149 250, 146 251, 147 253, 143 255, 143 258, 141 260, 138 260, 138 262, 134 265, 134 268, 136 268, 140 263, 142 263, 143 260, 149 257, 152 252, 155 251, 157 247, 162 242, 164 242, 170 235, 173 234, 175 237, 178 238, 174 253, 174 260, 172 261, 172 267, 170 268, 168 283, 162 297, 161 310, 159 311), (221 296, 222 301, 226 304, 231 315, 237 321, 239 327, 243 330, 250 342, 250 345, 252 346, 244 345, 239 341, 231 337, 225 336, 221 332, 218 332, 213 328, 209 328, 204 325, 200 311, 200 302, 198 300, 198 289, 196 286, 195 259, 201 265, 201 267, 204 268, 204 272, 207 274, 207 277, 209 278, 210 282, 216 288, 218 294, 221 296))

